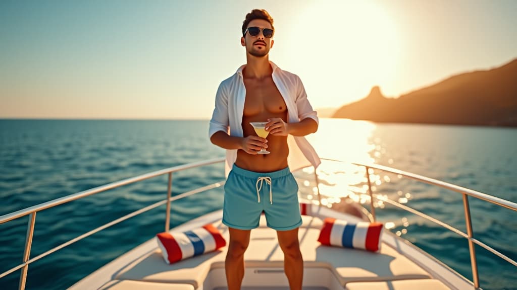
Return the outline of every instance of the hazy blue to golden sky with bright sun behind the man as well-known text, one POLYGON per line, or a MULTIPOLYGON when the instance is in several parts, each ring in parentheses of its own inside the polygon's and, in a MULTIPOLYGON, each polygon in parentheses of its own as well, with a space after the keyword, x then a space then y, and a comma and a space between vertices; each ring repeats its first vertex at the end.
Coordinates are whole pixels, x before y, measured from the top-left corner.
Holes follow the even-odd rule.
POLYGON ((0 118, 210 119, 246 13, 316 109, 517 58, 517 1, 0 1, 0 118))

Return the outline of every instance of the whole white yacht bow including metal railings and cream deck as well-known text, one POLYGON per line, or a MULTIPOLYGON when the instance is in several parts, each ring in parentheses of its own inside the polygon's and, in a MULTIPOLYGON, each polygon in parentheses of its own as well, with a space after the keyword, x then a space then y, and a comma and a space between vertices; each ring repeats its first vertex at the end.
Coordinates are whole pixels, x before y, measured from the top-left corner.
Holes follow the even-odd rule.
MULTIPOLYGON (((345 164, 338 160, 324 160, 345 164)), ((168 264, 164 261, 162 249, 157 238, 150 236, 145 243, 131 249, 93 273, 90 273, 87 277, 73 284, 70 289, 227 289, 224 260, 227 251, 227 241, 229 241, 229 231, 226 225, 222 223, 222 210, 207 213, 170 229, 171 203, 224 185, 224 180, 222 180, 188 192, 174 192, 173 195, 171 190, 173 174, 186 169, 217 163, 223 164, 224 158, 203 160, 202 162, 150 172, 0 216, 0 223, 29 216, 23 262, 18 266, 0 273, 0 279, 15 271, 21 271, 19 289, 24 289, 28 266, 31 263, 67 247, 76 241, 109 228, 114 224, 152 210, 153 208, 166 205, 164 232, 186 232, 195 230, 206 224, 212 224, 226 240, 226 246, 215 251, 168 264), (66 243, 54 247, 47 252, 31 257, 34 226, 38 212, 73 200, 92 196, 102 191, 156 178, 165 174, 169 177, 169 183, 168 192, 166 196, 164 195, 163 200, 105 223, 101 227, 68 240, 66 243)), ((367 206, 364 206, 360 202, 348 202, 345 203, 346 206, 326 206, 322 203, 319 192, 320 179, 318 178, 318 171, 312 167, 299 169, 299 171, 305 171, 306 175, 312 174, 313 182, 316 184, 314 198, 300 198, 303 223, 299 228, 299 243, 304 261, 303 289, 482 289, 478 276, 475 245, 483 247, 499 256, 505 262, 517 267, 517 262, 473 236, 469 199, 479 199, 484 202, 509 208, 513 211, 517 211, 516 203, 395 168, 377 164, 354 163, 353 165, 361 168, 364 175, 366 175, 365 179, 368 181, 368 188, 364 195, 368 197, 366 204, 368 204, 369 210, 367 206), (447 188, 462 195, 466 233, 405 204, 375 194, 375 190, 372 190, 373 186, 370 180, 370 175, 373 170, 394 173, 400 178, 413 179, 433 186, 447 188), (326 220, 329 218, 343 220, 351 224, 376 222, 375 212, 382 210, 381 207, 377 206, 378 202, 399 207, 402 210, 435 222, 464 237, 468 241, 470 250, 473 280, 470 281, 463 277, 431 254, 410 243, 407 239, 390 232, 386 227, 381 230, 381 234, 379 235, 379 247, 377 251, 328 246, 318 241, 322 227, 324 227, 326 220)), ((294 173, 296 176, 296 172, 294 173)), ((299 180, 298 182, 300 183, 299 180)), ((261 217, 260 226, 251 231, 250 244, 244 258, 245 276, 242 281, 242 289, 279 290, 289 288, 283 268, 283 253, 278 245, 276 231, 267 227, 264 216, 261 217)), ((66 275, 66 273, 63 273, 63 275, 66 275)))

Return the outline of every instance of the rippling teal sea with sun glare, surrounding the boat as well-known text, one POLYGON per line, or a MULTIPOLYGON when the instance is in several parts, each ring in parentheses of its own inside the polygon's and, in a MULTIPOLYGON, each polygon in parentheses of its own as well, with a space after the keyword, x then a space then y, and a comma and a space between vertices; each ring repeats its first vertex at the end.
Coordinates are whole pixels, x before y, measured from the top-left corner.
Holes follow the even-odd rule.
MULTIPOLYGON (((224 157, 208 120, 0 120, 0 216, 83 190, 173 166, 224 157)), ((369 208, 366 170, 379 164, 517 202, 517 129, 321 119, 307 136, 317 168, 295 173, 304 199, 369 208), (330 160, 328 160, 330 159, 330 160), (334 161, 339 160, 339 161, 334 161)), ((268 148, 269 151, 275 150, 268 148)), ((224 180, 222 163, 174 173, 173 196, 224 180)), ((369 171, 373 193, 466 232, 462 195, 402 175, 369 171)), ((31 257, 166 198, 166 175, 100 192, 36 215, 31 257)), ((517 260, 517 213, 469 197, 474 236, 517 260)), ((222 208, 222 188, 174 201, 171 227, 222 208)), ((386 229, 472 280, 467 240, 375 200, 386 229)), ((0 224, 0 273, 23 259, 28 217, 0 224)), ((28 267, 26 289, 65 289, 163 231, 165 206, 84 238, 28 267)), ((483 289, 517 289, 517 268, 476 246, 483 289)), ((20 270, 0 278, 17 289, 20 270)))

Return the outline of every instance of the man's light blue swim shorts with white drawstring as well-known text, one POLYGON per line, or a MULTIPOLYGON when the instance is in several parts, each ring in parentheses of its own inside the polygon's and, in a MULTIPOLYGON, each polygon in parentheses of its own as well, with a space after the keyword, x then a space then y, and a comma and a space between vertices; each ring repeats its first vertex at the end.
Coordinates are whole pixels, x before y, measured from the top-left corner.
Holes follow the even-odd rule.
POLYGON ((234 165, 224 184, 223 223, 240 230, 255 229, 262 212, 267 226, 277 231, 301 225, 298 184, 293 174, 288 167, 261 173, 234 165))

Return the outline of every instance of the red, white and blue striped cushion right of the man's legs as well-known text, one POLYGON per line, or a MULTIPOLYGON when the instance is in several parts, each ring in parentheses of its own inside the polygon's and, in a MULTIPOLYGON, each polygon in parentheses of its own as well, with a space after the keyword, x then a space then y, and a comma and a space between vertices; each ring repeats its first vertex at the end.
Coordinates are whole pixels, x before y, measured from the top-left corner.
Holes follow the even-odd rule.
POLYGON ((352 223, 335 218, 325 218, 318 241, 322 245, 376 252, 381 249, 383 224, 380 222, 352 223))

